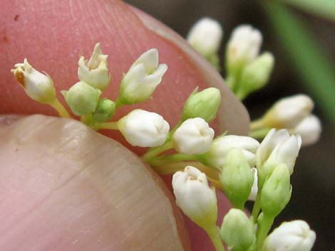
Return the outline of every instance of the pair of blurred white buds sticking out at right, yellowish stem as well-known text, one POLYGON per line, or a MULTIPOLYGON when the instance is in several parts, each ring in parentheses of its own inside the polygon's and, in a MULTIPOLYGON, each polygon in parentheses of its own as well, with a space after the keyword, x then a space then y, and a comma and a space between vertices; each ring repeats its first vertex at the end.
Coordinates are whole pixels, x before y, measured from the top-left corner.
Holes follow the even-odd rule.
POLYGON ((314 144, 321 134, 321 122, 311 114, 313 108, 314 102, 307 95, 282 98, 257 120, 256 129, 289 129, 289 132, 301 135, 303 146, 314 144))

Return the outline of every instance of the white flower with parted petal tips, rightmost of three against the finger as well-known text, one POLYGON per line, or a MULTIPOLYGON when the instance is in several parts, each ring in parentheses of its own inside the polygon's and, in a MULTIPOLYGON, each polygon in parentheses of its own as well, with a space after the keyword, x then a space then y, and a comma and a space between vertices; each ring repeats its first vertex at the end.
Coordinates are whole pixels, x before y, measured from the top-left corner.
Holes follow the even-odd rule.
POLYGON ((148 100, 167 70, 168 65, 158 65, 157 49, 150 49, 140 55, 121 81, 120 102, 135 104, 148 100))

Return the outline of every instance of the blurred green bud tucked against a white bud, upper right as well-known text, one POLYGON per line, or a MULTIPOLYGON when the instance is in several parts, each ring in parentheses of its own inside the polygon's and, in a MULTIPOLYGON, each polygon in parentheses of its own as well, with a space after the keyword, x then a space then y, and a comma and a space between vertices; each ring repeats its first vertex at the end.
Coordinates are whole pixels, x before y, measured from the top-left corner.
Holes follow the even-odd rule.
POLYGON ((248 95, 250 92, 259 90, 267 84, 274 67, 274 56, 272 53, 262 53, 242 70, 239 80, 238 92, 248 95))

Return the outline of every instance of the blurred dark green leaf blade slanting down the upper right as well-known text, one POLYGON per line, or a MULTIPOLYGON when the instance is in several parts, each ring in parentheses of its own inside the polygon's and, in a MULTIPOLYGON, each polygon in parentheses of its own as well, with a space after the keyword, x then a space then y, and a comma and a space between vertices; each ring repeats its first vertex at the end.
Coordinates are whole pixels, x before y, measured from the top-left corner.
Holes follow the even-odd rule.
POLYGON ((335 123, 335 66, 305 28, 305 23, 292 11, 271 1, 264 1, 263 4, 279 43, 291 57, 289 63, 303 80, 316 105, 335 123))

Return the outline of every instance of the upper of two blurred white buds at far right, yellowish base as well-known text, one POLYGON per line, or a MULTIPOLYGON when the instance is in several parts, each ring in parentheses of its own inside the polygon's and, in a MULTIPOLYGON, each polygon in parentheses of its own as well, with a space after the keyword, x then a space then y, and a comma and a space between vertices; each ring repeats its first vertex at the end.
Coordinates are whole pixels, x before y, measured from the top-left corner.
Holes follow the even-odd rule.
POLYGON ((314 102, 307 95, 294 95, 278 100, 264 115, 267 127, 291 129, 311 114, 314 102))

